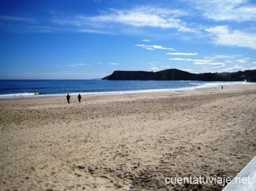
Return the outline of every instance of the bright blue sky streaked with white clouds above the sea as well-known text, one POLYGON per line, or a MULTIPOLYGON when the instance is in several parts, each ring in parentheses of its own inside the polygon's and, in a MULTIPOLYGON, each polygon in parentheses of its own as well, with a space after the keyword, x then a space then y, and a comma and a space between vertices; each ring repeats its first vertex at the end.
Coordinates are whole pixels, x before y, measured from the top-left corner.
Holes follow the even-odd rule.
POLYGON ((0 1, 0 79, 253 70, 255 53, 256 1, 0 1))

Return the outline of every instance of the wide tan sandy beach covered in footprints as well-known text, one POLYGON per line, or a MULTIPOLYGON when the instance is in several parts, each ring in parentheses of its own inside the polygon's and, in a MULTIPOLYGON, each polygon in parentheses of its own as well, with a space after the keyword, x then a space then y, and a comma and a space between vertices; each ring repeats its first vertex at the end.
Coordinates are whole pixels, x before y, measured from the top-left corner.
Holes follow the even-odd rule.
POLYGON ((256 155, 256 85, 0 100, 0 190, 221 190, 256 155))

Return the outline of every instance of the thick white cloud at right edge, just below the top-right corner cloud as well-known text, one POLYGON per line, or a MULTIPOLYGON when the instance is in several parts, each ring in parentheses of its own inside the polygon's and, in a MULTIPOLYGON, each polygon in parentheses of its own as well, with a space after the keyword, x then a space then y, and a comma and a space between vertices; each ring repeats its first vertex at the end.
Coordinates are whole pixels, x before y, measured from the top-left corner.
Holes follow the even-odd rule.
POLYGON ((227 26, 207 28, 205 31, 209 32, 213 44, 256 49, 255 33, 245 33, 239 30, 230 31, 227 26))

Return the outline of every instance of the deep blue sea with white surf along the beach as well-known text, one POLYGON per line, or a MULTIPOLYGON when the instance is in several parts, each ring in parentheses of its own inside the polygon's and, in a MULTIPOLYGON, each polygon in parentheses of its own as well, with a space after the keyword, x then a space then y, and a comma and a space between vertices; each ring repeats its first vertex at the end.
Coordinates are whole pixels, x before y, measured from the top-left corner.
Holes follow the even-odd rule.
POLYGON ((156 81, 156 80, 0 80, 0 99, 143 92, 187 91, 218 88, 246 82, 156 81))

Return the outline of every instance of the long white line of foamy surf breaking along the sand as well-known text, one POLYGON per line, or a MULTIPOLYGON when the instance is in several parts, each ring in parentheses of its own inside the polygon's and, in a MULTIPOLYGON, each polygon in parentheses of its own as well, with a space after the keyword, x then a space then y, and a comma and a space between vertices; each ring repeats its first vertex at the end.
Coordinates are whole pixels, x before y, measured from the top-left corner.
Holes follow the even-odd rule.
MULTIPOLYGON (((208 83, 189 83, 195 86, 180 87, 180 88, 159 88, 148 90, 127 90, 127 91, 101 91, 101 92, 71 92, 69 95, 119 95, 119 94, 142 94, 150 92, 175 92, 175 91, 191 91, 191 90, 204 90, 207 88, 218 88, 221 86, 230 86, 237 84, 255 84, 249 82, 208 82, 208 83)), ((0 99, 19 99, 30 97, 49 97, 49 96, 65 96, 65 94, 40 94, 40 92, 32 93, 16 93, 16 94, 2 94, 0 99)))

